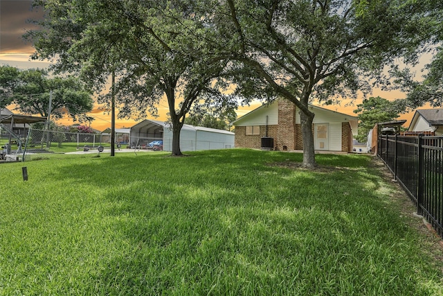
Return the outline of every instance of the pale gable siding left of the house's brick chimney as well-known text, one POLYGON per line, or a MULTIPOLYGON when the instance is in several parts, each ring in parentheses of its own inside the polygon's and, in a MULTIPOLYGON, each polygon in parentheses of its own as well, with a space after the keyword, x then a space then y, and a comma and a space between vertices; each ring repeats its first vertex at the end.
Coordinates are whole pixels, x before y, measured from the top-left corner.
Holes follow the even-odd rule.
POLYGON ((268 116, 268 125, 278 124, 278 101, 271 105, 264 105, 252 112, 244 115, 242 118, 235 121, 235 126, 247 125, 266 125, 266 116, 268 116))

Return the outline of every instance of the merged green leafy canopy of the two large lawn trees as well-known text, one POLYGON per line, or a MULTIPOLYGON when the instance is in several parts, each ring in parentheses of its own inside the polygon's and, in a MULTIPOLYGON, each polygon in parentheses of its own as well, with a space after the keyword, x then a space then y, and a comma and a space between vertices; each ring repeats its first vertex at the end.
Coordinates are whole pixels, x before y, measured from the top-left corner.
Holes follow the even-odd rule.
POLYGON ((60 56, 58 70, 78 71, 96 91, 114 69, 122 116, 143 118, 165 95, 173 124, 223 92, 221 77, 246 100, 283 96, 312 119, 312 98, 368 93, 386 64, 414 60, 424 28, 408 0, 36 2, 48 11, 30 34, 36 57, 60 56))

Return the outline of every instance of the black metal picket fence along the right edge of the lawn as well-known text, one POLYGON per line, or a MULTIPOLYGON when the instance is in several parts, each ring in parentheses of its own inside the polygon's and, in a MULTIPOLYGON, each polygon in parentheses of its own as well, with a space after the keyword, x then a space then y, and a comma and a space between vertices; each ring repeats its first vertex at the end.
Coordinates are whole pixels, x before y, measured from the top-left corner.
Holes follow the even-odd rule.
POLYGON ((443 137, 379 136, 377 155, 443 238, 443 137))

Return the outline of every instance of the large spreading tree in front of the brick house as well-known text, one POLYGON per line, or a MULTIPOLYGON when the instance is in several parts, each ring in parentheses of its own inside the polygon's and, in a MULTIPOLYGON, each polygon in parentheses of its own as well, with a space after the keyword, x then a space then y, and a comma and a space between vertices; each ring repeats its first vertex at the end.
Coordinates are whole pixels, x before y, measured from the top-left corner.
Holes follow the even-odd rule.
MULTIPOLYGON (((209 2, 209 1, 208 1, 209 2)), ((226 0, 207 5, 233 60, 253 70, 254 81, 300 110, 303 165, 316 166, 308 103, 368 93, 368 77, 413 52, 419 27, 406 1, 226 0)), ((244 80, 240 87, 257 87, 244 80)))

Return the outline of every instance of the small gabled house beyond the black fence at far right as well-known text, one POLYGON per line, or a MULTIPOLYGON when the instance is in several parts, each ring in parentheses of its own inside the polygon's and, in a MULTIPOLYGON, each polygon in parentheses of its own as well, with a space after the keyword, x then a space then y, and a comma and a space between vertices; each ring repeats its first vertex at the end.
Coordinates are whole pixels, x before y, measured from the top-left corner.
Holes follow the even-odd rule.
POLYGON ((416 110, 408 132, 434 132, 443 135, 443 108, 416 110))

